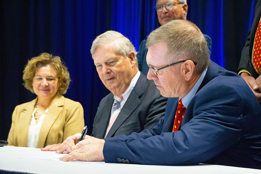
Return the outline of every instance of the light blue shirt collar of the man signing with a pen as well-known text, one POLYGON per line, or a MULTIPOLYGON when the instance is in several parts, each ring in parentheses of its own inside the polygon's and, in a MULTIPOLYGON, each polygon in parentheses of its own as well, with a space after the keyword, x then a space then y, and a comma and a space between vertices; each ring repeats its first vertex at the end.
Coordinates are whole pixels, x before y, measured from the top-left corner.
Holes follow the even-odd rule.
MULTIPOLYGON (((185 95, 185 97, 182 98, 182 104, 185 106, 185 108, 188 107, 189 102, 191 101, 191 99, 194 97, 194 95, 196 94, 200 84, 202 83, 205 75, 206 75, 206 71, 208 68, 206 68, 203 73, 201 74, 200 78, 197 80, 197 83, 195 84, 195 86, 193 86, 193 88, 189 91, 189 93, 187 95, 185 95)), ((180 98, 179 98, 180 100, 180 98)))

